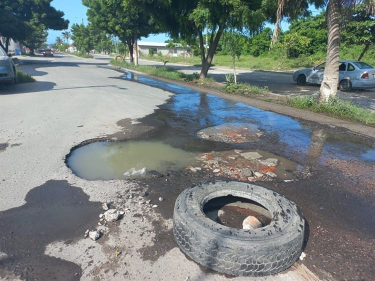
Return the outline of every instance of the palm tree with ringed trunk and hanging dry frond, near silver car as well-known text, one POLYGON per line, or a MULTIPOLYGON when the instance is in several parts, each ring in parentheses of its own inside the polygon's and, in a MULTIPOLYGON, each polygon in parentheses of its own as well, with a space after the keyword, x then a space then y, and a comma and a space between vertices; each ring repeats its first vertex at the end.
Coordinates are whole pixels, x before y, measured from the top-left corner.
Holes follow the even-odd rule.
MULTIPOLYGON (((294 4, 300 5, 301 0, 294 0, 294 4)), ((338 60, 339 60, 339 48, 340 48, 340 25, 339 15, 342 14, 342 7, 351 7, 355 9, 355 6, 364 3, 368 14, 375 13, 375 0, 325 0, 323 2, 319 0, 312 0, 316 6, 319 4, 326 4, 326 21, 327 21, 327 53, 326 63, 324 68, 323 81, 320 85, 318 102, 327 101, 330 96, 335 96, 337 93, 338 85, 338 60)), ((277 7, 277 18, 275 29, 273 32, 274 38, 272 43, 277 40, 277 34, 279 31, 279 22, 282 19, 283 8, 286 3, 290 4, 287 0, 278 0, 277 7)))

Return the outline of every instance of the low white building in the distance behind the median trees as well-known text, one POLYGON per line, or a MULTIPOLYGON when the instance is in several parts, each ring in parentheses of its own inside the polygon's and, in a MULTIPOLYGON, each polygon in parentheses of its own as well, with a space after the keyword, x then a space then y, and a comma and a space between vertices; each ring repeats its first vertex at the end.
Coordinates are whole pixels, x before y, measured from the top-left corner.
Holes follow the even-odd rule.
POLYGON ((151 49, 155 55, 157 55, 158 52, 161 52, 162 55, 169 54, 170 56, 189 55, 189 47, 184 50, 181 44, 174 44, 173 48, 167 48, 167 44, 168 43, 138 41, 138 54, 148 55, 148 50, 151 49))

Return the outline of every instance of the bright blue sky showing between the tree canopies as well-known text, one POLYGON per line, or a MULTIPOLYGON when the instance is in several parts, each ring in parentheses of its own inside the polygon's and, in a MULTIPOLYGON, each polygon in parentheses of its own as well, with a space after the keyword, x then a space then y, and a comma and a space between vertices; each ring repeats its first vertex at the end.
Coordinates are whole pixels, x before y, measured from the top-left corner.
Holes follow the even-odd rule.
MULTIPOLYGON (((70 31, 71 25, 73 23, 82 23, 87 24, 87 16, 86 11, 87 7, 82 4, 81 0, 52 0, 51 6, 53 6, 57 10, 61 10, 64 12, 64 19, 69 20, 69 27, 67 30, 70 31)), ((310 7, 310 9, 314 9, 313 7, 310 7)), ((318 11, 313 12, 313 14, 316 14, 318 11)), ((266 25, 273 29, 272 25, 266 25)), ((281 24, 281 29, 286 30, 288 27, 288 24, 286 22, 283 22, 281 24)), ((56 40, 56 37, 61 37, 61 33, 64 30, 48 30, 48 37, 47 37, 47 44, 53 44, 56 40)), ((140 38, 140 40, 145 42, 164 42, 169 37, 165 35, 165 33, 160 34, 150 34, 147 38, 140 38)))

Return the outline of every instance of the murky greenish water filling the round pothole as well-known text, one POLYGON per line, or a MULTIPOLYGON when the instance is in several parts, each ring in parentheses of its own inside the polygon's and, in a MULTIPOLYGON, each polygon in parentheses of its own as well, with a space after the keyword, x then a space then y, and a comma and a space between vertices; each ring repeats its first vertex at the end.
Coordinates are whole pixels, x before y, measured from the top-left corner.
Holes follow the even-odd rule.
POLYGON ((124 179, 126 171, 146 168, 160 173, 196 163, 195 154, 162 141, 93 142, 74 149, 67 165, 74 174, 88 180, 124 179))

